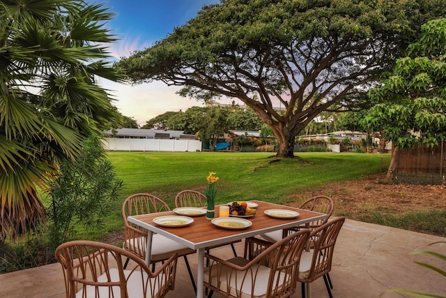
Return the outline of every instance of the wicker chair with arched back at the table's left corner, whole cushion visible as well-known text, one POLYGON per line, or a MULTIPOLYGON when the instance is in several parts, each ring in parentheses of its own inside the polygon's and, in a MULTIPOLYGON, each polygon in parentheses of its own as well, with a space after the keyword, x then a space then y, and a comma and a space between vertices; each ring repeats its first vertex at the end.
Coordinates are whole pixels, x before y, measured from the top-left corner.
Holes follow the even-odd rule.
MULTIPOLYGON (((123 248, 134 255, 137 255, 142 260, 146 258, 146 244, 148 231, 137 225, 129 223, 128 216, 149 214, 153 212, 170 211, 169 206, 160 198, 148 193, 137 193, 130 195, 124 203, 122 208, 122 214, 124 219, 124 243, 123 248)), ((189 272, 190 280, 197 292, 197 285, 195 285, 194 276, 190 269, 187 255, 196 253, 192 248, 188 248, 183 244, 171 240, 161 234, 153 234, 152 249, 151 249, 151 264, 153 264, 153 270, 155 269, 155 263, 162 262, 171 257, 172 254, 178 253, 179 256, 183 256, 187 271, 189 272)), ((128 260, 125 262, 124 268, 127 266, 128 260)))

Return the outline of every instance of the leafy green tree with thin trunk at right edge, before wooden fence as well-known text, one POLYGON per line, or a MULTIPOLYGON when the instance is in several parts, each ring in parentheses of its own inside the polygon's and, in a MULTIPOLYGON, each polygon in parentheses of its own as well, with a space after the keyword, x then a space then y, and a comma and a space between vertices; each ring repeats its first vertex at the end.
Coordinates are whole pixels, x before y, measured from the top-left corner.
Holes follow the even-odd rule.
POLYGON ((387 170, 392 179, 400 148, 446 140, 446 19, 422 26, 422 36, 397 61, 383 86, 370 91, 378 102, 362 120, 369 131, 383 129, 394 150, 387 170), (414 133, 421 133, 417 137, 414 133))

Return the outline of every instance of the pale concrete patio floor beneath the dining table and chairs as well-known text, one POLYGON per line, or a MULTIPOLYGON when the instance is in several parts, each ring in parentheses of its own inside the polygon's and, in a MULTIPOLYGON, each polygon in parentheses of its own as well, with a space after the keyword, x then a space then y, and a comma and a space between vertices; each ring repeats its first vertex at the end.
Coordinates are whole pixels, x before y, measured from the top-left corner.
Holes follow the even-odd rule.
MULTIPOLYGON (((333 297, 372 298, 388 288, 446 296, 446 278, 413 261, 426 262, 443 270, 446 270, 446 262, 427 255, 409 255, 420 250, 446 254, 446 244, 428 247, 435 241, 446 241, 446 238, 347 220, 334 249, 330 272, 333 297)), ((236 244, 236 250, 243 255, 243 243, 236 244)), ((215 248, 212 253, 226 258, 233 256, 229 246, 215 248)), ((192 271, 196 272, 197 256, 190 255, 188 260, 192 271)), ((60 266, 57 263, 0 275, 0 297, 65 297, 60 266)), ((177 270, 175 290, 169 292, 167 297, 195 297, 183 258, 178 260, 177 270)), ((222 296, 215 294, 213 297, 222 296)), ((291 297, 300 297, 299 285, 298 292, 291 297)), ((312 297, 328 297, 323 278, 312 283, 312 297)), ((413 296, 387 293, 383 297, 413 296)))

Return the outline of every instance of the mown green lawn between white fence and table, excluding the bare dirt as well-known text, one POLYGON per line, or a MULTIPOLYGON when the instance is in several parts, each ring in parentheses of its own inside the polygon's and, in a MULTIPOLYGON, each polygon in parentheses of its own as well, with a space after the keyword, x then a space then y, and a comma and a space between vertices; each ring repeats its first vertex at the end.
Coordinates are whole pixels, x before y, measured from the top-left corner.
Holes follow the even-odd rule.
POLYGON ((390 154, 296 153, 277 161, 271 153, 127 152, 109 151, 123 195, 102 232, 123 227, 121 204, 133 193, 152 193, 174 207, 176 193, 204 191, 208 172, 217 172, 216 203, 265 200, 285 203, 286 197, 330 181, 357 179, 387 170, 390 154))

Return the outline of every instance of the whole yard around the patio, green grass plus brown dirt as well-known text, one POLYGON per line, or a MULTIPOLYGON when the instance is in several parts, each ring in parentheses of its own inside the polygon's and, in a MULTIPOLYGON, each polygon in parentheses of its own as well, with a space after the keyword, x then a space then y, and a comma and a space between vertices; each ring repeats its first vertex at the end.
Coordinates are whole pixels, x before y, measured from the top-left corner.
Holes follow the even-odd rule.
MULTIPOLYGON (((297 207, 314 195, 329 195, 334 216, 388 225, 438 236, 446 235, 444 186, 387 184, 382 181, 390 154, 302 152, 294 160, 277 161, 271 153, 123 152, 107 153, 123 192, 104 225, 77 227, 75 239, 121 245, 121 206, 133 193, 152 193, 174 208, 176 193, 204 191, 206 176, 217 172, 217 204, 233 200, 265 200, 297 207)), ((48 200, 48 199, 47 199, 48 200)), ((48 203, 48 201, 46 202, 48 203)), ((54 262, 44 237, 28 237, 6 248, 0 273, 54 262), (37 252, 37 253, 36 253, 37 252)), ((1 251, 0 246, 0 251, 1 251)))

